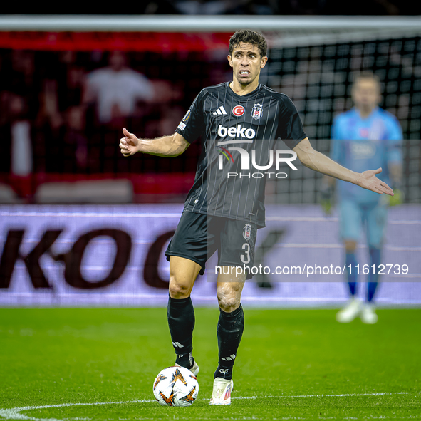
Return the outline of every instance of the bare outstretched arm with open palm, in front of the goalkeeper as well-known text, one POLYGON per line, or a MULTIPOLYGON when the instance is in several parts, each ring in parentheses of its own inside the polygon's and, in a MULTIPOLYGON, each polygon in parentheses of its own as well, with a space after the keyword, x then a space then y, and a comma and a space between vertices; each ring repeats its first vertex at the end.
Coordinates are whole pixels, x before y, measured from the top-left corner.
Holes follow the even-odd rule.
POLYGON ((363 189, 368 189, 378 194, 389 194, 393 196, 393 190, 385 182, 375 177, 376 174, 382 172, 381 168, 377 170, 368 170, 364 172, 355 172, 348 170, 348 168, 339 165, 338 162, 331 160, 321 152, 314 150, 311 147, 308 138, 301 140, 301 142, 293 148, 301 163, 311 170, 321 172, 325 175, 338 178, 357 184, 363 189))

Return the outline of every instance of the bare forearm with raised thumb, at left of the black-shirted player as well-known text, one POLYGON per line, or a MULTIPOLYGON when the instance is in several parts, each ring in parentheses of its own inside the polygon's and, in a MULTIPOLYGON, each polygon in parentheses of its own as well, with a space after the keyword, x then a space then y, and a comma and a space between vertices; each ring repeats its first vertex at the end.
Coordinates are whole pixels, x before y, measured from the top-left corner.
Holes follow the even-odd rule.
POLYGON ((128 132, 128 130, 123 129, 123 135, 125 137, 120 139, 119 146, 120 152, 125 157, 135 155, 136 152, 160 157, 177 157, 189 147, 189 142, 178 133, 170 136, 157 137, 156 139, 140 139, 128 132))

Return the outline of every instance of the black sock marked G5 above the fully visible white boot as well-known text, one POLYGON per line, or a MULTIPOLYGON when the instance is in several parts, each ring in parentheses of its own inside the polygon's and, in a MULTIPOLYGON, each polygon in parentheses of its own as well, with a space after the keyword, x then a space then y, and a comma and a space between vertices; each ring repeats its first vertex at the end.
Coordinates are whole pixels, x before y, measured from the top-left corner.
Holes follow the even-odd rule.
POLYGON ((214 378, 232 378, 237 349, 244 331, 244 312, 241 304, 232 313, 225 313, 219 308, 217 327, 219 362, 214 378))

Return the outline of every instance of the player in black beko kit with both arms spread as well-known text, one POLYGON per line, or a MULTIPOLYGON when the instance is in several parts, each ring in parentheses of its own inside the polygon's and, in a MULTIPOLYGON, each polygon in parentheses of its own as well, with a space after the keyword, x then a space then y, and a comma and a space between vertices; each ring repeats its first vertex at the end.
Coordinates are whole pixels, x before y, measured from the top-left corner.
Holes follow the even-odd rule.
POLYGON ((207 259, 218 251, 218 266, 223 269, 217 279, 219 363, 211 405, 231 403, 232 368, 244 329, 240 298, 244 281, 251 276, 246 270, 237 274, 232 269, 253 266, 256 229, 264 227, 266 179, 250 177, 246 157, 254 157, 255 167, 264 167, 276 140, 281 139, 306 167, 393 195, 392 189, 375 177, 380 168, 353 172, 313 150, 292 101, 259 83, 260 71, 268 60, 266 50, 261 33, 237 31, 229 40, 231 82, 204 88, 174 135, 144 140, 123 129, 125 137, 120 140, 124 156, 144 152, 174 157, 194 140, 202 142, 194 184, 165 254, 170 261, 168 324, 175 364, 197 375, 190 293, 207 259))

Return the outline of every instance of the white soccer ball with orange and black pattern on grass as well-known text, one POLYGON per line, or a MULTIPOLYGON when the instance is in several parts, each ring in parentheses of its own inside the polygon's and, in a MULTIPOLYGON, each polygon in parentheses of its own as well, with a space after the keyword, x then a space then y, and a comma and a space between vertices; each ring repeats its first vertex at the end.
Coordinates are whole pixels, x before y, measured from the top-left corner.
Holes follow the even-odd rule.
POLYGON ((199 383, 184 367, 167 367, 153 383, 153 394, 162 406, 190 406, 199 393, 199 383))

